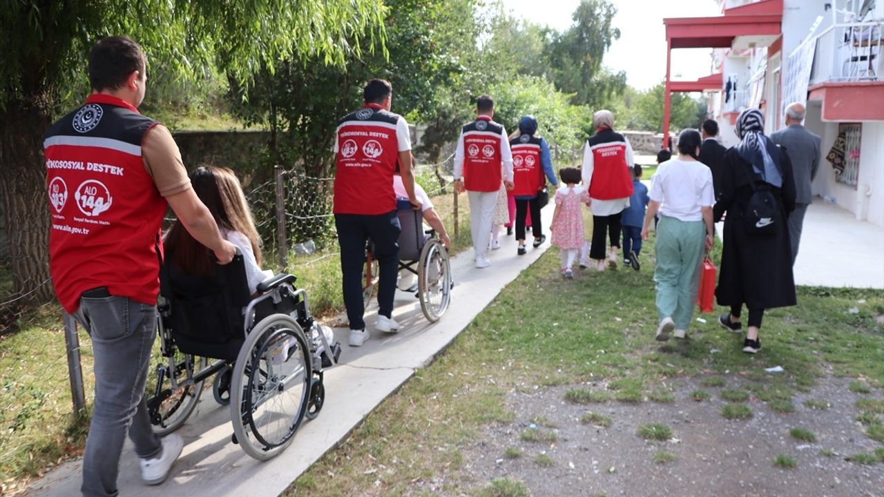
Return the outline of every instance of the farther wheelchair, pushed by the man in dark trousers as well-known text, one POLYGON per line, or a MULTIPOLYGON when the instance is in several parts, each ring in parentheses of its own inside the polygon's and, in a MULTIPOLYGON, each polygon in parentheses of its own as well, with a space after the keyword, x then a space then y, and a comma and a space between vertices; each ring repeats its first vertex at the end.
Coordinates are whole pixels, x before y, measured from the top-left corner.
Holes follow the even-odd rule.
MULTIPOLYGON (((424 229, 423 215, 411 208, 408 199, 397 200, 402 231, 399 235, 399 271, 417 276, 417 297, 423 316, 438 321, 451 303, 453 279, 448 251, 433 229, 424 229)), ((362 265, 362 303, 368 308, 377 287, 379 268, 371 242, 365 248, 362 265)))

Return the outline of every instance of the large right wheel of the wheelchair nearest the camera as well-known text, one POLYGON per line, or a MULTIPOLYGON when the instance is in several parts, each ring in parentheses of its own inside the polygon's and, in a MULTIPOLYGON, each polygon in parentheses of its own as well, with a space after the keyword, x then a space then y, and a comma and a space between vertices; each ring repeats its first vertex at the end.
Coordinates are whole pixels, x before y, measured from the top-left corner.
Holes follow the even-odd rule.
POLYGON ((292 317, 265 317, 248 333, 233 365, 233 433, 246 454, 258 460, 278 455, 292 443, 308 409, 310 352, 292 317))

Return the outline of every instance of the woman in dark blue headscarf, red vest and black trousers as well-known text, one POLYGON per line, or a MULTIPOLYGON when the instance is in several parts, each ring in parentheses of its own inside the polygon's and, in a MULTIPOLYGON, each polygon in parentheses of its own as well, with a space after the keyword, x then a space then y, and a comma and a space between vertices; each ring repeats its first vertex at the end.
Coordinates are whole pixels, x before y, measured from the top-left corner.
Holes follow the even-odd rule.
POLYGON ((515 197, 515 239, 519 241, 516 253, 525 255, 525 218, 530 210, 531 233, 534 235, 534 248, 546 241, 543 226, 540 224, 540 204, 537 193, 550 180, 553 187, 559 186, 559 180, 552 171, 550 147, 546 141, 537 136, 537 119, 524 116, 519 121, 519 135, 509 141, 513 150, 513 183, 511 193, 515 197))

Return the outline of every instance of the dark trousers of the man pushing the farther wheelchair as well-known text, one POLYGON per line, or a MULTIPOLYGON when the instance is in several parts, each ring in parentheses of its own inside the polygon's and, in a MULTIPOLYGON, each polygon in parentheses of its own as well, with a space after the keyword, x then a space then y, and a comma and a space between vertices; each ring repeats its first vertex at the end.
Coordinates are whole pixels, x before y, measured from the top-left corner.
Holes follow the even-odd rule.
POLYGON ((396 275, 399 273, 399 233, 401 226, 396 211, 377 216, 335 214, 340 246, 341 284, 344 306, 351 330, 362 330, 365 304, 362 302, 362 266, 365 265, 365 244, 375 246, 375 259, 380 275, 377 278, 377 314, 392 317, 392 300, 396 296, 396 275))

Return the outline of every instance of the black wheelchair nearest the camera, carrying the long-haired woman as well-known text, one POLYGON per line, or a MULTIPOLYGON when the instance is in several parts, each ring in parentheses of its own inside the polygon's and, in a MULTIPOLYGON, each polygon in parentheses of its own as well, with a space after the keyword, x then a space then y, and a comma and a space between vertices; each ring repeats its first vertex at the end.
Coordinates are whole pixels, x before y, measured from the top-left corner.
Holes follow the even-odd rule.
POLYGON ((145 392, 154 432, 184 424, 213 375, 215 400, 230 406, 232 441, 255 459, 278 455, 303 419, 319 414, 323 369, 338 362, 341 349, 310 316, 307 293, 295 280, 291 274, 266 279, 252 299, 241 254, 204 277, 183 274, 167 259, 160 275, 160 357, 145 392))

